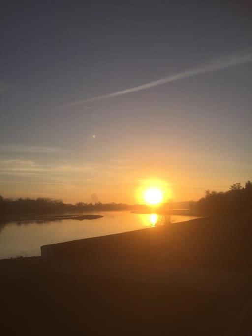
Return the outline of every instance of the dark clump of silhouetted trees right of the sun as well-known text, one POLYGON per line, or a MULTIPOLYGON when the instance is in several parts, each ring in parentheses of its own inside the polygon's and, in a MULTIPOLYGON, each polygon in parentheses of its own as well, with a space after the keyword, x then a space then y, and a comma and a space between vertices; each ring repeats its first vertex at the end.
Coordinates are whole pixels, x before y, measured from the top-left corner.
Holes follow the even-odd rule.
POLYGON ((252 210, 252 182, 234 183, 226 192, 206 190, 205 197, 191 202, 192 211, 203 215, 227 214, 252 210))

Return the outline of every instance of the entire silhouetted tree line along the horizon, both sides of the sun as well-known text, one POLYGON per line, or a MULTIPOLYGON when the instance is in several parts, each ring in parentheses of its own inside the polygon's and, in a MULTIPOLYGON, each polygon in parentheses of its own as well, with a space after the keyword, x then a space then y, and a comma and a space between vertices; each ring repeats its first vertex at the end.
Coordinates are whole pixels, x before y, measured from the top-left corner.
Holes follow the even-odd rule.
MULTIPOLYGON (((184 202, 188 203, 188 202, 184 202)), ((164 206, 164 205, 163 205, 164 206)), ((170 207, 169 207, 170 208, 170 207)), ((162 207, 160 207, 162 209, 162 207)), ((150 210, 146 205, 129 205, 124 203, 63 203, 61 200, 50 198, 3 198, 0 196, 0 214, 46 214, 63 212, 91 212, 116 210, 150 210)), ((200 200, 190 202, 193 214, 215 215, 252 210, 252 182, 247 181, 244 186, 234 183, 226 192, 206 190, 200 200)))

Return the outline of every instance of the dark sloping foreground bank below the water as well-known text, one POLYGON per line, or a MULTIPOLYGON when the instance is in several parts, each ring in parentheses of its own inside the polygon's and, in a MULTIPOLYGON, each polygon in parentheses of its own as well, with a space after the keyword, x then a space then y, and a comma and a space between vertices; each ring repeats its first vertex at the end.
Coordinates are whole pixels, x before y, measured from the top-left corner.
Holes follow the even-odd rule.
POLYGON ((252 214, 0 261, 1 335, 252 335, 252 214))

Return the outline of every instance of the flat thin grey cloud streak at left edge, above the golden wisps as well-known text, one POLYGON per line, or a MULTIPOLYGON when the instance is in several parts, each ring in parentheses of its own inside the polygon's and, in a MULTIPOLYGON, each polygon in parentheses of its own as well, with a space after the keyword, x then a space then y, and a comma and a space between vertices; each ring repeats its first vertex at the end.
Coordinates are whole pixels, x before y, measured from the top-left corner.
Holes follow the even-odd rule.
POLYGON ((57 147, 30 145, 0 145, 0 152, 16 153, 63 153, 65 150, 57 147))

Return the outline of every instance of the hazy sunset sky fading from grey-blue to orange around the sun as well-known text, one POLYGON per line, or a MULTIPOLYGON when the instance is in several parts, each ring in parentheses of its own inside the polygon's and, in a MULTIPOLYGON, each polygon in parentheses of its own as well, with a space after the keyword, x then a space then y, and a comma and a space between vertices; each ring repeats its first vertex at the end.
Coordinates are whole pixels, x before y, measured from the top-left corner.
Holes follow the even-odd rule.
POLYGON ((0 194, 175 201, 252 179, 250 1, 5 1, 0 194), (91 196, 93 194, 93 196, 91 196))

